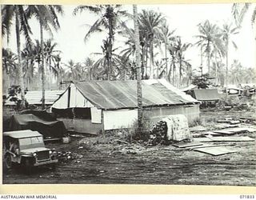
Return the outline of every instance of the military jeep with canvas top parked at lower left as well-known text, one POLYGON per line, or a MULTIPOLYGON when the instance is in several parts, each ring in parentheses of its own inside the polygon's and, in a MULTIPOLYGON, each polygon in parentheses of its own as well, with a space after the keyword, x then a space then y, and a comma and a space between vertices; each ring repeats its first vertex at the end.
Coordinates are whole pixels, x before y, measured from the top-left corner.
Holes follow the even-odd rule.
POLYGON ((16 130, 3 133, 3 156, 6 168, 14 163, 22 165, 26 171, 33 166, 49 165, 58 162, 56 151, 45 147, 42 134, 32 130, 16 130))

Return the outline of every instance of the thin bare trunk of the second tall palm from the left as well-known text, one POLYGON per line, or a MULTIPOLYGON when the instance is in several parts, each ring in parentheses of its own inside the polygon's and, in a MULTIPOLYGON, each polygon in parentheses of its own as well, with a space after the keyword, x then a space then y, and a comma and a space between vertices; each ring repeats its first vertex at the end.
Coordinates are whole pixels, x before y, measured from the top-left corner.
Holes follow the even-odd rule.
POLYGON ((42 22, 40 22, 40 35, 41 35, 41 54, 42 54, 42 58, 41 58, 41 70, 42 70, 42 110, 45 109, 45 102, 46 102, 46 97, 45 97, 45 55, 44 55, 44 44, 43 44, 43 27, 42 27, 42 22))

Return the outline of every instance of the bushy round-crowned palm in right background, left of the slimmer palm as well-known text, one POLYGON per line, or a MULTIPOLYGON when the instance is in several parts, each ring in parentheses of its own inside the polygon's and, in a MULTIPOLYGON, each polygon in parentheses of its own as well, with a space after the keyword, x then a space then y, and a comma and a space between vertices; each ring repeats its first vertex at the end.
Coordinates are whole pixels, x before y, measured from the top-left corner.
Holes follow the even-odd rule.
POLYGON ((210 73, 210 59, 212 51, 214 50, 215 40, 218 39, 221 34, 219 33, 218 26, 211 24, 209 20, 198 24, 198 30, 200 34, 195 37, 199 38, 199 40, 195 45, 202 49, 201 54, 206 54, 208 73, 210 73))

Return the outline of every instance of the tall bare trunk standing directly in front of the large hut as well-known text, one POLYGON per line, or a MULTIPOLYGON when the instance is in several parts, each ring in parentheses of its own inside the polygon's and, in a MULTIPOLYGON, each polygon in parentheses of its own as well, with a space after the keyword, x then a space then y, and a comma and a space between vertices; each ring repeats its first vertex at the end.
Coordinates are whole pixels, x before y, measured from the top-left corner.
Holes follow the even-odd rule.
POLYGON ((142 132, 142 74, 141 74, 141 56, 139 50, 139 33, 138 33, 138 11, 137 6, 133 5, 134 10, 134 36, 137 66, 137 101, 138 101, 138 132, 142 132))

